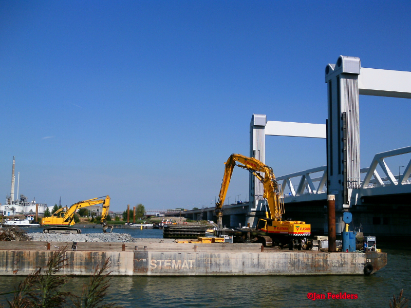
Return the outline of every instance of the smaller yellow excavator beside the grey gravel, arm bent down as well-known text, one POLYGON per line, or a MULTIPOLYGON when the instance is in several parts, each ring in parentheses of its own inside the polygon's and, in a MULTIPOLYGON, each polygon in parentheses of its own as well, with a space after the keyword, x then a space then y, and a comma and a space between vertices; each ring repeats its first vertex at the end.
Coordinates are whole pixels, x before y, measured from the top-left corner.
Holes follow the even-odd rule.
POLYGON ((80 234, 81 229, 72 228, 74 225, 74 214, 80 208, 102 204, 103 210, 101 212, 100 223, 103 226, 103 232, 107 232, 107 228, 110 228, 110 233, 113 230, 113 226, 107 224, 106 218, 108 215, 108 209, 110 207, 110 197, 104 196, 100 198, 94 198, 84 201, 79 201, 72 204, 70 207, 59 208, 51 217, 43 217, 41 225, 45 226, 43 233, 74 233, 80 234))

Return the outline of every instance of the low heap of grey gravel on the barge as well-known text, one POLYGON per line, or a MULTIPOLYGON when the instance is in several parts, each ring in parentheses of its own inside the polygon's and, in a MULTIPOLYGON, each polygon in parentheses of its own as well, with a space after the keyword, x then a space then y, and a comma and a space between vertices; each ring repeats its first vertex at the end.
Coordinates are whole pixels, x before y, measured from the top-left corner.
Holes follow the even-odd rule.
POLYGON ((33 241, 41 242, 135 242, 127 233, 45 234, 30 233, 33 241))

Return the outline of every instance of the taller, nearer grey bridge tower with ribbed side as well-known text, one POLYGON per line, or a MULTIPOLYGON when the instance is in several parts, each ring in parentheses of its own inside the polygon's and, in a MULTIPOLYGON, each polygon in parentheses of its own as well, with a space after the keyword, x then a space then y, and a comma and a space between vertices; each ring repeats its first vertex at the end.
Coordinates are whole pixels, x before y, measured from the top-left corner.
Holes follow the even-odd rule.
MULTIPOLYGON (((336 213, 350 207, 353 189, 360 188, 360 113, 358 57, 340 56, 325 68, 327 83, 327 191, 335 195, 336 213)), ((336 216, 337 230, 342 216, 336 216), (339 217, 340 216, 340 217, 339 217)))

